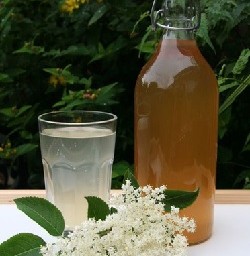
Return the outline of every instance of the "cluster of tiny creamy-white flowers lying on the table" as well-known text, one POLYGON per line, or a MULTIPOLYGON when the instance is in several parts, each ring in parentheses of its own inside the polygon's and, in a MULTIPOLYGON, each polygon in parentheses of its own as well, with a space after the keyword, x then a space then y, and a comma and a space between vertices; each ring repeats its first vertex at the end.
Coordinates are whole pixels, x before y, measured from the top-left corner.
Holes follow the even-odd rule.
POLYGON ((44 256, 183 256, 184 230, 194 232, 195 222, 179 216, 179 209, 164 211, 160 202, 165 186, 135 189, 127 181, 122 194, 111 198, 117 212, 105 220, 89 219, 55 244, 41 249, 44 256))

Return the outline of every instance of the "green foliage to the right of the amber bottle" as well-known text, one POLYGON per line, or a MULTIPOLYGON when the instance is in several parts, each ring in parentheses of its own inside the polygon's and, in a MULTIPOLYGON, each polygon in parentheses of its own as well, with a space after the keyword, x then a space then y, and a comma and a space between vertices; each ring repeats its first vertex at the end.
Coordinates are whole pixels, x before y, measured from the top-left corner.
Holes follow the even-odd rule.
POLYGON ((250 3, 202 2, 205 13, 197 36, 217 73, 221 101, 217 187, 249 188, 250 3))

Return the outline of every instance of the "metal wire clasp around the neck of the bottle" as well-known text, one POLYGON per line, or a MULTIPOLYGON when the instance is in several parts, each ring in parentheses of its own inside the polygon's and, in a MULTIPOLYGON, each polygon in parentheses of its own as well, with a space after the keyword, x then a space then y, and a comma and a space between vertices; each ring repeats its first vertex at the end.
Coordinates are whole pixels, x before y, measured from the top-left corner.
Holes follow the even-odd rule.
POLYGON ((156 2, 153 1, 151 8, 151 23, 153 30, 157 27, 164 28, 167 30, 197 30, 200 26, 201 12, 199 1, 193 2, 192 6, 185 7, 183 15, 176 19, 176 17, 171 17, 171 9, 174 6, 175 0, 164 0, 162 8, 156 11, 156 2), (176 26, 178 21, 182 21, 180 26, 176 26), (175 26, 173 25, 175 24, 175 26))

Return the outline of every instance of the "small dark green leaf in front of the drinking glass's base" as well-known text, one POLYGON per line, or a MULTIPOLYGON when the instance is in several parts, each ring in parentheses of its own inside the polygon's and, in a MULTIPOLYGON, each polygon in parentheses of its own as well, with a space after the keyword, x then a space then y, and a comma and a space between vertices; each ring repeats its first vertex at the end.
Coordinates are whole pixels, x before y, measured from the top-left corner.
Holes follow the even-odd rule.
POLYGON ((106 202, 101 198, 95 196, 86 196, 88 201, 88 218, 94 218, 95 220, 105 220, 106 217, 111 214, 111 210, 106 202))

